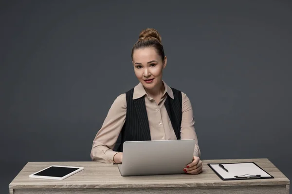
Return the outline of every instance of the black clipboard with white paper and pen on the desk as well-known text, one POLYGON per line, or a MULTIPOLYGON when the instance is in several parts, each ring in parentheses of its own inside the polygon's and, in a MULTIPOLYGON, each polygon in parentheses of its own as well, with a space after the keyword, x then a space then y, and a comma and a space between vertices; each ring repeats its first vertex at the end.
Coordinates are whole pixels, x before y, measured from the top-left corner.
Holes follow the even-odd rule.
POLYGON ((274 178, 255 162, 208 163, 208 166, 222 180, 274 178))

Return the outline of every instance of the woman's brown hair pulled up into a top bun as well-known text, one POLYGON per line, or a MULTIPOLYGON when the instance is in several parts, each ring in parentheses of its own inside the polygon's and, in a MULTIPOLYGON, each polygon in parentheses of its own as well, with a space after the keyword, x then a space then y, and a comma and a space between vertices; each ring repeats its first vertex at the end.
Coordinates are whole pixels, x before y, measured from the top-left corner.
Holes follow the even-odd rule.
POLYGON ((153 28, 147 28, 140 32, 139 39, 134 44, 132 49, 132 59, 133 53, 136 49, 144 49, 147 47, 153 47, 157 54, 161 56, 162 61, 164 61, 164 49, 161 44, 161 36, 159 32, 153 28))

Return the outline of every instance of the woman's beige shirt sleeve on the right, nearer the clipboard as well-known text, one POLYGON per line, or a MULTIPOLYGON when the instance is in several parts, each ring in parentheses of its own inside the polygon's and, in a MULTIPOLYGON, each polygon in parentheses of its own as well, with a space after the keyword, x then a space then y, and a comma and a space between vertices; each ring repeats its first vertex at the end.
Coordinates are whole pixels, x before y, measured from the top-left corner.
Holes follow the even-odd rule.
POLYGON ((195 121, 193 109, 189 98, 182 92, 182 124, 181 124, 181 139, 194 139, 196 141, 194 156, 200 157, 201 151, 198 144, 198 138, 195 131, 195 121))

